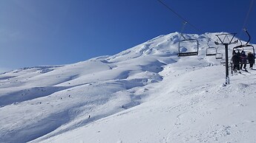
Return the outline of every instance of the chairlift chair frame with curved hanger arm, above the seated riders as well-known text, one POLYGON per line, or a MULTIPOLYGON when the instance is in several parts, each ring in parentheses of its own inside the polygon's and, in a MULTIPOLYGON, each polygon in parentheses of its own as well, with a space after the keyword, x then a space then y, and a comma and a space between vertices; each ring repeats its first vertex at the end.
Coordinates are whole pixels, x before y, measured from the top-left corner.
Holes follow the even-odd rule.
POLYGON ((233 51, 239 51, 239 52, 246 52, 249 53, 251 52, 252 55, 255 56, 255 47, 252 46, 251 44, 248 44, 249 41, 251 40, 251 36, 249 35, 249 32, 247 32, 246 29, 244 29, 244 31, 246 32, 246 34, 249 36, 249 40, 246 42, 246 44, 242 44, 242 41, 240 41, 240 45, 239 46, 234 46, 233 51))

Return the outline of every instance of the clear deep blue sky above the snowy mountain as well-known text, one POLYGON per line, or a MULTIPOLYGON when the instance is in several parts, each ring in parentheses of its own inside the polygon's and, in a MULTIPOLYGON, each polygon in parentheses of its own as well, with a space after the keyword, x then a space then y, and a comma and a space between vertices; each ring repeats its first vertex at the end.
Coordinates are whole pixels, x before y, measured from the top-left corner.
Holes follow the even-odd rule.
MULTIPOLYGON (((252 0, 162 0, 200 32, 242 32, 252 0)), ((256 43, 256 1, 246 22, 256 43)), ((183 21, 157 0, 0 0, 0 71, 114 55, 183 21)))

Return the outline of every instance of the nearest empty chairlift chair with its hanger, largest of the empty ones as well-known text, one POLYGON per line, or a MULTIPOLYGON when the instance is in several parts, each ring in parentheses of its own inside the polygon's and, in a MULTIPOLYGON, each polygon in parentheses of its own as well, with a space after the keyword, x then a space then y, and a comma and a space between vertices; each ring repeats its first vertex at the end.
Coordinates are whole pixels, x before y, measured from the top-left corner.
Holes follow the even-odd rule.
MULTIPOLYGON (((184 22, 183 29, 184 29, 186 23, 187 22, 184 22)), ((178 45, 179 52, 177 55, 179 57, 198 55, 199 43, 198 43, 197 39, 185 38, 185 36, 183 35, 183 29, 180 34, 181 34, 181 36, 183 36, 184 40, 179 42, 179 45, 178 45)))

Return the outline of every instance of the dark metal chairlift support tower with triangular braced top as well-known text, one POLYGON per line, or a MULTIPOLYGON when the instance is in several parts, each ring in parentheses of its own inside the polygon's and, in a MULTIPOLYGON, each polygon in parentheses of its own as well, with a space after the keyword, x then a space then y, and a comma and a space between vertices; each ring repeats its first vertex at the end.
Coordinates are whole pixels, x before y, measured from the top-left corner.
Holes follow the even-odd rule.
POLYGON ((231 34, 221 34, 221 35, 216 35, 217 38, 220 40, 221 43, 218 43, 218 42, 214 42, 216 45, 219 45, 219 44, 222 44, 225 46, 225 60, 226 60, 226 85, 227 84, 230 84, 230 80, 229 80, 229 45, 232 44, 232 43, 237 43, 237 41, 233 41, 234 39, 234 35, 236 35, 236 33, 231 33, 231 34), (229 35, 232 35, 232 39, 229 40, 229 35), (223 40, 220 39, 220 37, 223 36, 223 40), (225 39, 228 39, 227 42, 225 42, 225 39))

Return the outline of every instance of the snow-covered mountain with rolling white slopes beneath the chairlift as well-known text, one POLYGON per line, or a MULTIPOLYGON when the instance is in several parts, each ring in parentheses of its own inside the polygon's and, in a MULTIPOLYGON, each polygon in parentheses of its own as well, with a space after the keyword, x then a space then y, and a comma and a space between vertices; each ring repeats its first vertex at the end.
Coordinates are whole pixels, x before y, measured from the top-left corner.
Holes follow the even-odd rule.
POLYGON ((256 71, 223 86, 225 66, 206 56, 216 34, 185 35, 198 56, 177 57, 174 32, 113 56, 5 72, 0 142, 256 142, 256 71))

